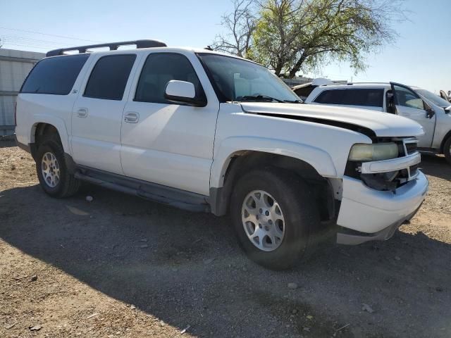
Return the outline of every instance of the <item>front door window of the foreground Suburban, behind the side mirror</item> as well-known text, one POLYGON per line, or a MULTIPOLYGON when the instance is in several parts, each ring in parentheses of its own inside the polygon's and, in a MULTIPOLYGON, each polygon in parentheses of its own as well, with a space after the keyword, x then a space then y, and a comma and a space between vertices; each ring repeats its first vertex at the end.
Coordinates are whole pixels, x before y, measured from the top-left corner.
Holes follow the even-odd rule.
POLYGON ((156 53, 147 56, 137 84, 134 101, 173 104, 164 97, 166 84, 171 80, 191 82, 196 89, 196 98, 205 97, 199 78, 186 56, 156 53))

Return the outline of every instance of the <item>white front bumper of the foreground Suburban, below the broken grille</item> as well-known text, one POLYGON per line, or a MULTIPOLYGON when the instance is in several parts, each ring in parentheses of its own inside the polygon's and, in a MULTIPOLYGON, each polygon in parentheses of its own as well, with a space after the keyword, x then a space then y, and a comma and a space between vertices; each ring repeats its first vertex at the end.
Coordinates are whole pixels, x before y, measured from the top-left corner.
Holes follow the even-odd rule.
MULTIPOLYGON (((337 224, 343 228, 363 233, 359 244, 373 239, 388 239, 405 220, 409 220, 423 203, 428 191, 428 179, 419 172, 395 193, 367 187, 362 181, 343 178, 343 193, 337 224), (394 230, 393 230, 394 229, 394 230)), ((346 242, 346 232, 339 232, 338 241, 346 242)), ((357 236, 357 234, 352 234, 357 236)))

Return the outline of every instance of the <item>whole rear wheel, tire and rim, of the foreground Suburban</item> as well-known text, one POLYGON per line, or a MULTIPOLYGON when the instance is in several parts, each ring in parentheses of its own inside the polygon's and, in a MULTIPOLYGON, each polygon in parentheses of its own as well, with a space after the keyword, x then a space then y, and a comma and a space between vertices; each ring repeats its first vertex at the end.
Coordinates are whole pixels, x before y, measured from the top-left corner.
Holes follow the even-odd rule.
POLYGON ((64 149, 57 134, 45 135, 36 154, 36 171, 44 192, 68 197, 78 192, 80 181, 68 172, 64 149))

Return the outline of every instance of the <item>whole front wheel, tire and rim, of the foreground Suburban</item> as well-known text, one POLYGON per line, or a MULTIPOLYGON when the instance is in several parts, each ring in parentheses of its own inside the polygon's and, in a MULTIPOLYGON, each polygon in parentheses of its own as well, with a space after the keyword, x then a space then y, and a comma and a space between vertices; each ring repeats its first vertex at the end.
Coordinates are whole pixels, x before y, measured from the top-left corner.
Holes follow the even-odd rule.
POLYGON ((255 170, 237 181, 230 215, 249 257, 273 270, 295 265, 319 225, 318 206, 309 185, 276 168, 255 170))

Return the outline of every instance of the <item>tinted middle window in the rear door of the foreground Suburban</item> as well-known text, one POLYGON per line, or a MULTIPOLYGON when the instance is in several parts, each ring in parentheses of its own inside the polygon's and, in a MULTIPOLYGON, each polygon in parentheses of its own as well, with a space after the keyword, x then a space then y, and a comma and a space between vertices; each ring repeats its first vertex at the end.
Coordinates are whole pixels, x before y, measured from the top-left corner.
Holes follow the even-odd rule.
POLYGON ((92 69, 83 96, 121 101, 135 54, 102 56, 92 69))

